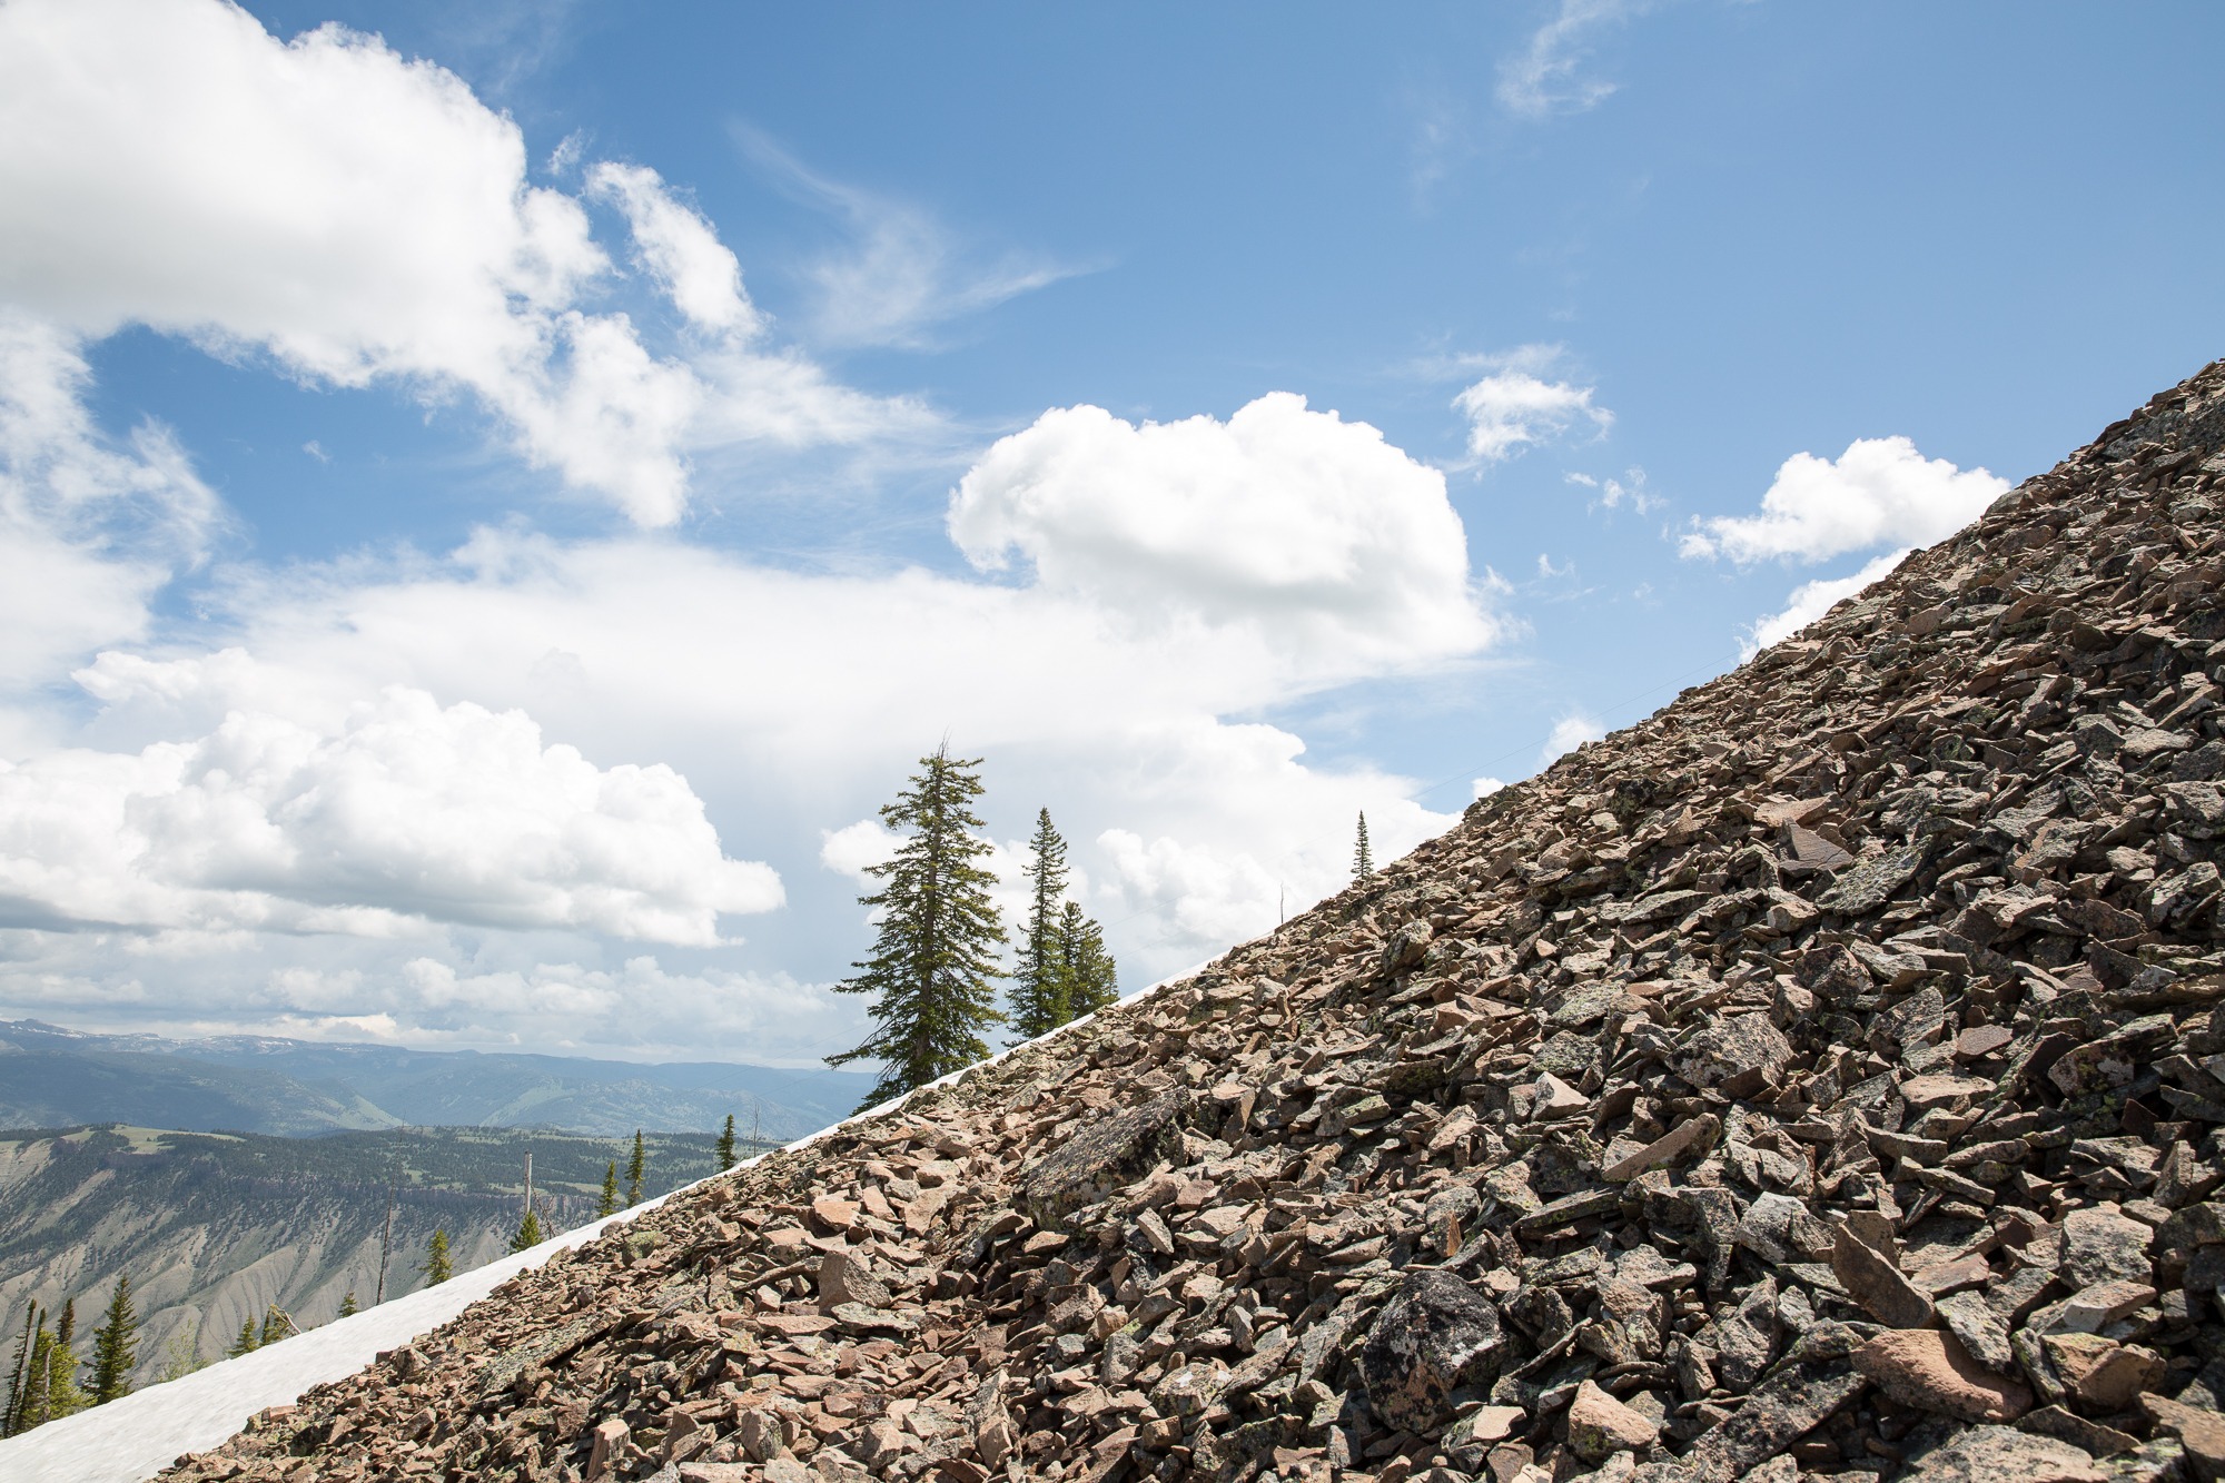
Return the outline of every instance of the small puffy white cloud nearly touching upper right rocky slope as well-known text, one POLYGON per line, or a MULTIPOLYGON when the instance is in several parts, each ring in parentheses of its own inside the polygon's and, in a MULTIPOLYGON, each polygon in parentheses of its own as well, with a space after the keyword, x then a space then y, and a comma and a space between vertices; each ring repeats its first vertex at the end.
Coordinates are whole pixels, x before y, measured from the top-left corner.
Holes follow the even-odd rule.
POLYGON ((1982 468, 1925 459, 1905 436, 1856 439, 1838 459, 1798 452, 1778 468, 1758 514, 1698 521, 1687 557, 1829 561, 1878 546, 1929 546, 2009 490, 1982 468))

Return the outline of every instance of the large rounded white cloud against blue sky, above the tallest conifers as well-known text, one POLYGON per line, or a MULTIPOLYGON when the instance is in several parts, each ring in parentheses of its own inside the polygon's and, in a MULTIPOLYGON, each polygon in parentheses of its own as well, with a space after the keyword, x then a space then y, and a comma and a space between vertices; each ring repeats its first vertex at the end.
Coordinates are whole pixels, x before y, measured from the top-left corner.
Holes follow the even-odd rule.
POLYGON ((1019 552, 1044 592, 1242 626, 1315 670, 1444 659, 1495 632, 1444 474, 1288 392, 1226 423, 1046 412, 966 474, 950 537, 983 570, 1019 552))

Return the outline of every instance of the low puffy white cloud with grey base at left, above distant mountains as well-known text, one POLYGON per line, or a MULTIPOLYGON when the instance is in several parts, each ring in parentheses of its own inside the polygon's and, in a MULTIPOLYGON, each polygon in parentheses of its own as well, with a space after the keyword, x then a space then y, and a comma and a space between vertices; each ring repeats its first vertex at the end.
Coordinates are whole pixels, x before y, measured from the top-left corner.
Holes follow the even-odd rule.
POLYGON ((779 904, 779 877, 721 853, 672 768, 596 768, 523 713, 400 686, 336 733, 231 710, 191 742, 0 764, 13 926, 461 922, 708 946, 721 913, 779 904))

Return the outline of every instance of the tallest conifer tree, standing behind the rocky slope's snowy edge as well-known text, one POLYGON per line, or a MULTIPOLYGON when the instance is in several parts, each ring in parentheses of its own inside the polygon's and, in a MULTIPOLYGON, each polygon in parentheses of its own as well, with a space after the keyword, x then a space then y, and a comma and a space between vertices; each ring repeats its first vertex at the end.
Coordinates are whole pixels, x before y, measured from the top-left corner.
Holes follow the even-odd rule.
POLYGON ((970 1067, 988 1055, 981 1038, 997 1013, 997 946, 1003 924, 988 888, 995 875, 977 862, 990 853, 972 833, 981 819, 979 757, 952 757, 950 744, 921 757, 921 770, 881 822, 903 835, 892 860, 866 866, 881 882, 861 906, 881 911, 872 955, 850 964, 857 978, 834 984, 843 993, 874 995, 874 1020, 863 1044, 828 1055, 830 1067, 879 1060, 881 1076, 859 1111, 892 1096, 970 1067))

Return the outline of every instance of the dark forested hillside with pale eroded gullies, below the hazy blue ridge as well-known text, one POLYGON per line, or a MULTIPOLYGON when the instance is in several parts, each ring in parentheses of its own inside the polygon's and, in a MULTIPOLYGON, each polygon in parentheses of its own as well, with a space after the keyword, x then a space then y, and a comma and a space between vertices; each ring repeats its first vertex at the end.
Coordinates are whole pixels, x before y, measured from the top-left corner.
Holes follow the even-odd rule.
MULTIPOLYGON (((645 1138, 643 1196, 712 1171, 710 1133, 645 1138)), ((300 1327, 354 1292, 378 1294, 387 1191, 387 1296, 414 1292, 436 1229, 456 1269, 498 1256, 518 1227, 525 1153, 545 1231, 596 1214, 630 1140, 510 1129, 358 1131, 325 1138, 136 1127, 0 1136, 0 1314, 27 1300, 96 1314, 122 1271, 145 1320, 136 1381, 209 1361, 276 1305, 300 1327)))

